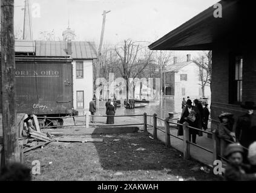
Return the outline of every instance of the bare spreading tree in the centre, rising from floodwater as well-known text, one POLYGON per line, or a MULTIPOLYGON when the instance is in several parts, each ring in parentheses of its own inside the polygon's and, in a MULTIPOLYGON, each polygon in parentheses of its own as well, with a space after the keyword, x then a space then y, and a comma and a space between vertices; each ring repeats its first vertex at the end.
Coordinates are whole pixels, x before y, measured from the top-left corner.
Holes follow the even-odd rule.
POLYGON ((131 84, 134 85, 134 78, 139 77, 151 61, 153 51, 148 51, 143 48, 145 47, 140 46, 140 44, 136 45, 130 39, 124 40, 122 46, 116 46, 116 48, 114 48, 117 54, 116 67, 120 75, 126 81, 126 100, 129 98, 129 78, 133 78, 131 84))

